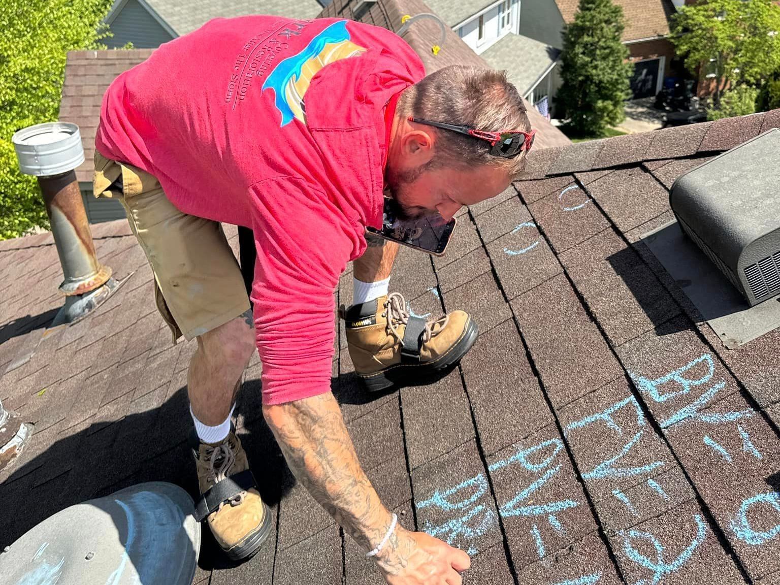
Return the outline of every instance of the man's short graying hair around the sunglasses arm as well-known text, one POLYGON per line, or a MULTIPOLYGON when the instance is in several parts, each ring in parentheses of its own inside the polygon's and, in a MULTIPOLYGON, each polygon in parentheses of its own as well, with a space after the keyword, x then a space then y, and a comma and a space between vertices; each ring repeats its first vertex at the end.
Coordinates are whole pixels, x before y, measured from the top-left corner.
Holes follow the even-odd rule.
MULTIPOLYGON (((523 98, 506 79, 506 72, 495 69, 462 65, 438 69, 403 92, 399 110, 405 116, 480 130, 530 132, 523 98)), ((505 168, 514 178, 525 167, 524 153, 515 158, 495 157, 483 140, 445 129, 431 131, 436 135, 437 152, 429 168, 491 165, 505 168)))

